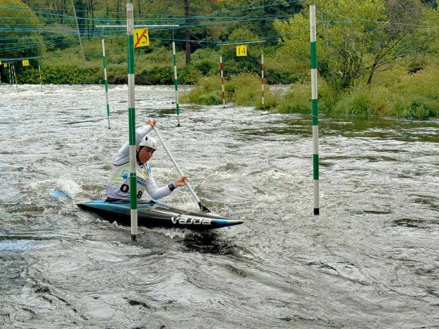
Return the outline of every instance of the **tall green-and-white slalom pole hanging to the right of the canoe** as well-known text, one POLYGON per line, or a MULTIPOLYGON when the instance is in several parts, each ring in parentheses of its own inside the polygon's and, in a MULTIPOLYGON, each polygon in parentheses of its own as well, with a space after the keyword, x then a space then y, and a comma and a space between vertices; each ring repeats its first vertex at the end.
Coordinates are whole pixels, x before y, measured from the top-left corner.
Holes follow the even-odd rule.
POLYGON ((309 7, 311 36, 311 102, 313 116, 313 175, 314 175, 314 214, 320 212, 319 200, 319 116, 317 108, 317 35, 316 5, 309 7))

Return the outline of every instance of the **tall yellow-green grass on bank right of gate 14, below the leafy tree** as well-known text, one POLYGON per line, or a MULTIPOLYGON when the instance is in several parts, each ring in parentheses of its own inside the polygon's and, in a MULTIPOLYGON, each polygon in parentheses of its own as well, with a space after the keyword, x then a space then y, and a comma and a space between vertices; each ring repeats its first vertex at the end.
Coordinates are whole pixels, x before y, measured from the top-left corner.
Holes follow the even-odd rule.
MULTIPOLYGON (((411 73, 404 68, 386 71, 372 87, 358 85, 344 93, 336 92, 319 77, 319 113, 340 116, 398 116, 428 118, 439 116, 439 66, 435 63, 411 73)), ((274 111, 311 113, 311 81, 301 80, 281 95, 274 111)), ((256 104, 258 108, 258 104, 256 104)))

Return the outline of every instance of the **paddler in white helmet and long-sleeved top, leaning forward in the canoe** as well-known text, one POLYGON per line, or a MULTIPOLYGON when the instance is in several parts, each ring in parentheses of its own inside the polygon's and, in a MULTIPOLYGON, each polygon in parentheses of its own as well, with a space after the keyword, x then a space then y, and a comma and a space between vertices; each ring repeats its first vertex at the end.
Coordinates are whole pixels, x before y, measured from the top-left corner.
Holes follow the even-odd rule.
MULTIPOLYGON (((153 126, 157 123, 154 119, 149 119, 143 127, 136 130, 136 168, 137 168, 137 199, 139 200, 146 192, 154 199, 158 200, 169 195, 178 186, 186 185, 183 179, 187 176, 181 176, 171 184, 158 188, 154 180, 151 168, 146 162, 151 159, 157 151, 157 141, 148 136, 153 126)), ((114 160, 108 177, 106 190, 107 199, 105 202, 126 202, 130 199, 130 145, 126 142, 119 150, 114 160)))

